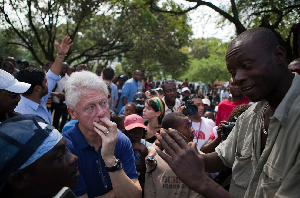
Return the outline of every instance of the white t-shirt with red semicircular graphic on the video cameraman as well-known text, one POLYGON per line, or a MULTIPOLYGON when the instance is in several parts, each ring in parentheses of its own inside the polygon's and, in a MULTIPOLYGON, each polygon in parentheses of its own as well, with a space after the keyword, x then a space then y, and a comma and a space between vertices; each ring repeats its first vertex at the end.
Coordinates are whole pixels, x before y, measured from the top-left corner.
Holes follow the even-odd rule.
POLYGON ((209 139, 209 135, 213 132, 215 122, 211 119, 201 117, 201 122, 193 122, 192 128, 195 130, 193 142, 197 142, 197 149, 200 150, 202 145, 209 139), (201 129, 199 131, 199 127, 201 129))

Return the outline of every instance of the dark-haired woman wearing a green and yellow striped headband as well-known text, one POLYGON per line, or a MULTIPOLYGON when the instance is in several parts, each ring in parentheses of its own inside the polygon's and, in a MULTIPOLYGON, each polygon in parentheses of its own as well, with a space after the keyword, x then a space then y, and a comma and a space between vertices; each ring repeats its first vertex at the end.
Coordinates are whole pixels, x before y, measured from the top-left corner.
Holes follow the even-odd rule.
POLYGON ((145 122, 147 126, 146 140, 153 143, 156 140, 155 134, 162 127, 162 119, 164 117, 165 104, 158 97, 148 99, 143 110, 143 118, 148 119, 145 122))

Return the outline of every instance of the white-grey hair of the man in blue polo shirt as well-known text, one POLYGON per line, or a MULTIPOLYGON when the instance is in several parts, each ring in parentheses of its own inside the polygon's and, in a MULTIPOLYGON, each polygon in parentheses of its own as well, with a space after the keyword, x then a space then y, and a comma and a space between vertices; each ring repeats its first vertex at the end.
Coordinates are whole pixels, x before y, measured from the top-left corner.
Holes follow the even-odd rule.
POLYGON ((86 70, 73 72, 65 84, 67 106, 76 110, 76 106, 80 102, 79 97, 87 89, 103 91, 107 97, 107 86, 99 76, 86 70))

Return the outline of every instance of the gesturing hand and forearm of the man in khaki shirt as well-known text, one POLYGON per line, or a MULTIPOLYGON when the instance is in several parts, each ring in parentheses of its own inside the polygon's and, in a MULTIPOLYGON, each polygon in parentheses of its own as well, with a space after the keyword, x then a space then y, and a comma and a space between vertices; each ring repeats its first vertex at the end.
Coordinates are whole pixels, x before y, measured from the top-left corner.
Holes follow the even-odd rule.
MULTIPOLYGON (((159 141, 156 144, 164 148, 169 156, 155 148, 157 154, 168 163, 185 185, 204 197, 234 197, 206 175, 205 164, 209 161, 215 163, 212 155, 201 155, 197 150, 197 143, 187 143, 180 134, 171 128, 168 131, 161 129, 160 134, 156 134, 159 141)), ((218 156, 217 158, 219 159, 218 156)))

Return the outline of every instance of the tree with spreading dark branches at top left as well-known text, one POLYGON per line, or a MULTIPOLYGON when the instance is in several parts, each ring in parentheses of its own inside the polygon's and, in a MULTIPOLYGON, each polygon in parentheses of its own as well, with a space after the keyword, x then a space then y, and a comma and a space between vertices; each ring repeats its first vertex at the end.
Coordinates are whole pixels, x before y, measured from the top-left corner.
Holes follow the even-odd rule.
MULTIPOLYGON (((95 59, 95 56, 98 58, 99 55, 112 58, 115 53, 123 52, 124 45, 130 44, 119 41, 122 27, 110 29, 107 27, 108 23, 103 26, 99 25, 100 20, 106 21, 109 18, 105 14, 102 14, 102 19, 96 17, 96 13, 104 6, 104 3, 105 1, 99 0, 2 1, 0 3, 1 19, 5 22, 7 31, 15 34, 14 38, 5 40, 2 45, 22 46, 28 49, 34 59, 42 65, 46 60, 54 60, 56 54, 54 43, 56 40, 61 41, 62 35, 70 36, 73 42, 79 45, 85 37, 85 31, 92 29, 91 25, 94 25, 95 32, 98 30, 97 33, 100 34, 98 39, 89 42, 84 51, 78 51, 79 46, 73 46, 67 54, 67 62, 72 63, 81 59, 80 63, 86 63, 95 59), (15 17, 7 11, 10 10, 9 7, 16 13, 15 17), (25 15, 25 20, 22 20, 22 15, 25 15), (57 33, 61 33, 59 37, 57 33), (95 52, 90 53, 91 50, 95 52)), ((105 5, 113 6, 113 3, 105 5)))

